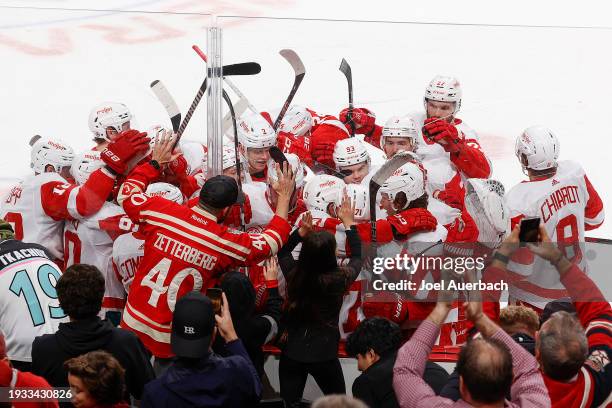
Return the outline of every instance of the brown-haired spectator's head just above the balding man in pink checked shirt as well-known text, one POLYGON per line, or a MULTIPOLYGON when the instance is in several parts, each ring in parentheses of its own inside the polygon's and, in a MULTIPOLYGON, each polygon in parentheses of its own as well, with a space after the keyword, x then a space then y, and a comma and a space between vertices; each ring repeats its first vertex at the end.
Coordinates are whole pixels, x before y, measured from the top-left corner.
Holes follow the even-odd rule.
POLYGON ((535 355, 535 337, 540 318, 527 306, 508 306, 499 313, 499 325, 514 341, 535 355))

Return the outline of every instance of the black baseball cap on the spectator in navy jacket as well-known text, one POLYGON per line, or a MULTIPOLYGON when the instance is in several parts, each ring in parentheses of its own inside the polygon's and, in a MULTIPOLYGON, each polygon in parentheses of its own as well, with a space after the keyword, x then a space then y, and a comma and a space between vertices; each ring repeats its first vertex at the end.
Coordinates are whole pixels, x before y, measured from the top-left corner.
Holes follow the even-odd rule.
POLYGON ((214 327, 215 313, 210 299, 200 292, 189 292, 174 308, 172 351, 177 357, 204 357, 208 354, 214 327))

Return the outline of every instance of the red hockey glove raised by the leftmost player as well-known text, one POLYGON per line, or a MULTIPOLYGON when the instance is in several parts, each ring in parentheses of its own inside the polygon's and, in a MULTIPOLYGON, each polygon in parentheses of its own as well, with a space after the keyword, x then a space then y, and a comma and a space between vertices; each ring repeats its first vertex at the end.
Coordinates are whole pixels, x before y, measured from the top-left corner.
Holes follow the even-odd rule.
POLYGON ((149 150, 149 141, 146 133, 130 129, 122 132, 102 152, 102 161, 117 174, 123 174, 128 169, 129 162, 136 156, 149 150))

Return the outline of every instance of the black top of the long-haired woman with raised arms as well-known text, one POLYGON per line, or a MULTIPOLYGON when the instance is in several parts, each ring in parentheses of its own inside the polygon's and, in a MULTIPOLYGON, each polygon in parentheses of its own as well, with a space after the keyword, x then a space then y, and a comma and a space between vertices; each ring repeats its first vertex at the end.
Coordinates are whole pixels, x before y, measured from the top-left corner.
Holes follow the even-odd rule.
MULTIPOLYGON (((361 240, 355 227, 346 231, 351 257, 345 267, 319 276, 319 288, 310 293, 311 310, 288 311, 283 316, 283 335, 280 344, 283 354, 292 360, 313 363, 338 357, 340 331, 338 320, 345 292, 361 270, 361 240)), ((297 273, 297 262, 291 252, 301 242, 298 230, 278 252, 278 263, 285 280, 297 273)))

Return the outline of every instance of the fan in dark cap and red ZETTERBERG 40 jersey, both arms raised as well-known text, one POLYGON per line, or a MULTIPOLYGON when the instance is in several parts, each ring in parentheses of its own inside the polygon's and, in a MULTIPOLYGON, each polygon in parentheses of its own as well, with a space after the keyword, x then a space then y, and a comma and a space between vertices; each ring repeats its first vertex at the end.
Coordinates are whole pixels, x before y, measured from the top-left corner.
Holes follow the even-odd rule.
POLYGON ((134 331, 156 358, 169 358, 170 322, 176 301, 189 291, 204 291, 228 268, 257 264, 287 241, 289 202, 295 186, 291 169, 276 168, 275 215, 257 234, 219 224, 238 200, 238 184, 228 176, 208 179, 199 202, 183 206, 145 194, 172 159, 174 139, 162 138, 153 160, 139 165, 120 189, 119 204, 144 235, 144 257, 130 286, 121 326, 134 331), (143 317, 144 316, 144 317, 143 317))

